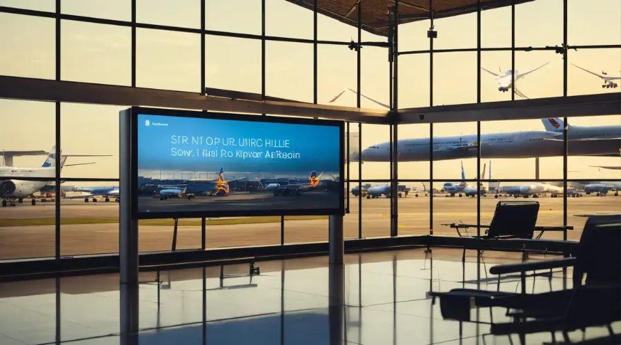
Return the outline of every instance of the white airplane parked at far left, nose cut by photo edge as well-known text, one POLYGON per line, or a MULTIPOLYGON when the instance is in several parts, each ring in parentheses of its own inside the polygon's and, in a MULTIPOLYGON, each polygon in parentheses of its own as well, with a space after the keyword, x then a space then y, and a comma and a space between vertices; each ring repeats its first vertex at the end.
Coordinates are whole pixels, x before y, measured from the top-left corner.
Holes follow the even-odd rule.
MULTIPOLYGON (((64 166, 83 166, 90 163, 65 164, 68 157, 101 157, 108 155, 61 155, 60 168, 64 166)), ((41 168, 18 168, 14 166, 0 167, 0 197, 2 198, 2 207, 16 206, 17 203, 22 204, 23 198, 38 192, 41 188, 47 186, 50 181, 27 181, 20 179, 10 179, 10 177, 38 177, 49 178, 50 181, 56 177, 56 146, 48 153, 46 160, 43 161, 41 168), (9 179, 4 179, 9 177, 9 179)), ((37 204, 35 199, 30 201, 32 206, 37 204)))

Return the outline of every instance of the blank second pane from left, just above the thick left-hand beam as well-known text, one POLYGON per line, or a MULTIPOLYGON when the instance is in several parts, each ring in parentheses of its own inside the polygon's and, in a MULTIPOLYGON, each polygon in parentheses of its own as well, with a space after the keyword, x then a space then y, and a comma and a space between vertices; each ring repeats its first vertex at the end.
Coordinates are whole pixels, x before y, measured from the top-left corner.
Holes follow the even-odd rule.
POLYGON ((131 28, 79 21, 61 28, 61 79, 131 85, 131 28))

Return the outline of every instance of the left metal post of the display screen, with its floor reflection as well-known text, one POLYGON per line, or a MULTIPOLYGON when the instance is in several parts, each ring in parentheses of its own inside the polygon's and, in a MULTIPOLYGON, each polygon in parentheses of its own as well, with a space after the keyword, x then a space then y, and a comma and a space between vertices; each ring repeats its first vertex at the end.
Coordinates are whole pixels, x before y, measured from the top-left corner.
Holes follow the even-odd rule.
POLYGON ((138 333, 138 220, 132 219, 132 121, 130 110, 119 114, 119 277, 121 344, 137 344, 138 333))

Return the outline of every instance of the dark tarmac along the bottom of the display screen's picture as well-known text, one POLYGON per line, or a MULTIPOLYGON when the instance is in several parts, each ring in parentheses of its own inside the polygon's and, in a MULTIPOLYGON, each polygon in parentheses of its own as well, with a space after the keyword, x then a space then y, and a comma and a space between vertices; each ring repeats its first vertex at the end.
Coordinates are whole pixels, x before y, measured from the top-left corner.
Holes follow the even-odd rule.
POLYGON ((273 193, 231 193, 226 196, 197 196, 194 199, 175 198, 160 200, 138 197, 139 213, 222 211, 243 212, 248 209, 295 210, 299 208, 337 208, 339 195, 324 191, 310 191, 302 195, 275 196, 273 193))

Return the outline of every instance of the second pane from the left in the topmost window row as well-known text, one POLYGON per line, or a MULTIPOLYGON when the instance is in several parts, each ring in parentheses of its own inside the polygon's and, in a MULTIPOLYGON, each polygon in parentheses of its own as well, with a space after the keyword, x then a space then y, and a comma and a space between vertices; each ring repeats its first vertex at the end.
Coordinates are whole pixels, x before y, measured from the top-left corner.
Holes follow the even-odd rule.
MULTIPOLYGON (((132 20, 131 0, 82 1, 61 0, 61 12, 84 17, 132 20)), ((64 30, 64 29, 63 29, 64 30)))

